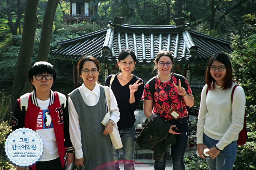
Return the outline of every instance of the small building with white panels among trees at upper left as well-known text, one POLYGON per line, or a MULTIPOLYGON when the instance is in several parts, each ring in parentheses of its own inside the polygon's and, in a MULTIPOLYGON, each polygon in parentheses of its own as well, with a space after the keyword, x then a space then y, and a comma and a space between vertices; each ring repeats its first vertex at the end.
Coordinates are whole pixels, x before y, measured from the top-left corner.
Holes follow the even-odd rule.
POLYGON ((63 19, 72 25, 75 21, 90 20, 98 13, 98 4, 91 6, 91 0, 70 0, 70 14, 64 14, 63 19))

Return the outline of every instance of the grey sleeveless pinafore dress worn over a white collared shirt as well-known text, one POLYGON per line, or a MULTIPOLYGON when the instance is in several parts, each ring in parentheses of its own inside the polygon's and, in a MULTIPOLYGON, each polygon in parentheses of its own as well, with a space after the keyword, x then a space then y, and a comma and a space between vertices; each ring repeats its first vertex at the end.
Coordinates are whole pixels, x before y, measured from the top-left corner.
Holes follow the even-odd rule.
POLYGON ((100 86, 99 102, 95 106, 88 106, 77 88, 71 98, 79 116, 82 138, 84 166, 86 170, 115 170, 112 143, 109 135, 104 135, 105 126, 101 123, 106 114, 104 88, 100 86))

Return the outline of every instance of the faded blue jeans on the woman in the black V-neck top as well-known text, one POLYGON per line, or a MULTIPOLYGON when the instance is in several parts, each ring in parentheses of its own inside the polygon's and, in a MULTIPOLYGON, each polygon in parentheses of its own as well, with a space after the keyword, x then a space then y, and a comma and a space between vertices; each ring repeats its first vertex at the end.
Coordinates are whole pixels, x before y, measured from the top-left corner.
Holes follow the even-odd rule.
MULTIPOLYGON (((134 146, 135 146, 135 124, 125 129, 119 129, 119 134, 123 144, 123 162, 125 170, 134 170, 134 146)), ((119 170, 118 160, 119 150, 113 148, 116 170, 119 170)))

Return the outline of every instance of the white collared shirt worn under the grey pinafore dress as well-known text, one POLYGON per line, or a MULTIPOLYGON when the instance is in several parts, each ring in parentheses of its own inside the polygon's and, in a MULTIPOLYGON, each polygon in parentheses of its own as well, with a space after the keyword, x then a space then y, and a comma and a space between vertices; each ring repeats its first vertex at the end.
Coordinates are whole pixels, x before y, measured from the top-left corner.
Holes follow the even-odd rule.
MULTIPOLYGON (((93 90, 89 90, 84 84, 82 86, 78 87, 81 88, 84 92, 84 95, 86 98, 84 99, 84 102, 88 106, 95 106, 99 101, 99 84, 96 83, 93 90)), ((112 92, 112 90, 109 88, 109 111, 110 111, 110 119, 113 120, 115 123, 118 122, 120 119, 120 112, 117 107, 116 98, 112 92)), ((83 150, 82 150, 82 138, 81 138, 81 130, 80 130, 80 124, 79 124, 79 116, 78 113, 75 110, 74 104, 70 98, 68 98, 68 112, 69 112, 69 133, 70 133, 70 139, 72 142, 72 145, 75 148, 75 155, 76 159, 83 158, 83 150)), ((102 132, 103 133, 103 132, 102 132)))

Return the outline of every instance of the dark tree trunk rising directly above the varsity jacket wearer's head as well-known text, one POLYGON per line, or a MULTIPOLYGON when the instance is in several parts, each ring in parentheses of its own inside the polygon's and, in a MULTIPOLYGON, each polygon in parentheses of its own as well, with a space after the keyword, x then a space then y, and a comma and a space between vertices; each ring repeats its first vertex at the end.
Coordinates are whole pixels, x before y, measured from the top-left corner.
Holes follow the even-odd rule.
POLYGON ((49 0, 46 8, 42 24, 42 33, 38 48, 37 62, 48 61, 50 41, 52 38, 52 25, 54 15, 58 6, 59 0, 49 0))

